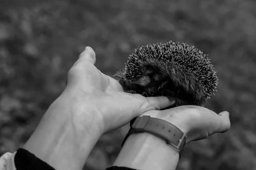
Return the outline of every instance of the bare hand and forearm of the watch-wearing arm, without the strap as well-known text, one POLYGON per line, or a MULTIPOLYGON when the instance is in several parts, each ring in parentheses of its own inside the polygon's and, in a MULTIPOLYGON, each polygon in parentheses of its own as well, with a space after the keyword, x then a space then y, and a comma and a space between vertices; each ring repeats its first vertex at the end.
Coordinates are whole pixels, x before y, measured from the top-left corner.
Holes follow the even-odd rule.
MULTIPOLYGON (((228 112, 216 114, 207 108, 184 105, 163 111, 146 111, 140 116, 163 119, 187 136, 186 143, 223 133, 230 128, 228 112)), ((150 133, 132 133, 125 141, 114 166, 138 170, 176 170, 179 153, 166 141, 150 133)))

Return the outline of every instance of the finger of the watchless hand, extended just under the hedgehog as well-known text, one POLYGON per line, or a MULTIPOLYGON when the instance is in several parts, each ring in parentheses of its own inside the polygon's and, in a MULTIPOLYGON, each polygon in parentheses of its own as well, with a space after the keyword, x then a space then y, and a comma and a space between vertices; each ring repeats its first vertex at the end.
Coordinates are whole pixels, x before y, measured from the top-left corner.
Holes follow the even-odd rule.
POLYGON ((159 97, 146 97, 145 99, 146 99, 146 106, 147 106, 145 108, 145 111, 160 110, 175 104, 175 99, 172 97, 167 98, 165 96, 159 96, 159 97))

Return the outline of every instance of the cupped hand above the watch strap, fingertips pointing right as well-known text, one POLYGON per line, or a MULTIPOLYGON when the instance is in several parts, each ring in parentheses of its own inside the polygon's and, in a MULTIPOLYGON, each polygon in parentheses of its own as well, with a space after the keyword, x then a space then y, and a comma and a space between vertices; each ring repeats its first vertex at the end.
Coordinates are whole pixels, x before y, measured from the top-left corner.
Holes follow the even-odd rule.
POLYGON ((147 111, 141 116, 163 119, 176 125, 187 135, 186 143, 207 138, 214 133, 224 133, 230 128, 229 113, 219 114, 200 106, 184 105, 163 111, 147 111))

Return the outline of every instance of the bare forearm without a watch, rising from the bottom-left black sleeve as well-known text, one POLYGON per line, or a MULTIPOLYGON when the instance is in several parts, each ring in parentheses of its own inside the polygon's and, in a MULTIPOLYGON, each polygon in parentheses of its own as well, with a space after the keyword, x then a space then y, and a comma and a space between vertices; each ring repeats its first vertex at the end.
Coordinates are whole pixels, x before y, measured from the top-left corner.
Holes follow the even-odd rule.
POLYGON ((87 131, 76 133, 79 125, 73 124, 72 111, 72 101, 56 99, 23 148, 55 169, 81 170, 101 134, 89 118, 83 125, 87 131))

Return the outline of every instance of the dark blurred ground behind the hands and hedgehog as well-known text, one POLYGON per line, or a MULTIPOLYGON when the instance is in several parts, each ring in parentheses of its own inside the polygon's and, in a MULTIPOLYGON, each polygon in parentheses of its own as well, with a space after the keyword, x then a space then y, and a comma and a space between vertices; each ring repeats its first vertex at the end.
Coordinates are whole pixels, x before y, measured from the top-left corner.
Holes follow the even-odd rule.
MULTIPOLYGON (((209 54, 219 86, 207 108, 231 119, 229 132, 187 144, 177 170, 255 170, 255 7, 254 0, 0 0, 0 155, 26 142, 85 46, 112 76, 139 45, 173 40, 209 54)), ((127 131, 102 136, 84 169, 111 166, 127 131)))

